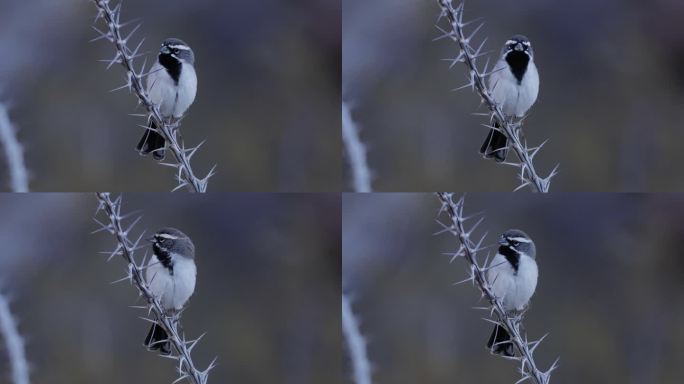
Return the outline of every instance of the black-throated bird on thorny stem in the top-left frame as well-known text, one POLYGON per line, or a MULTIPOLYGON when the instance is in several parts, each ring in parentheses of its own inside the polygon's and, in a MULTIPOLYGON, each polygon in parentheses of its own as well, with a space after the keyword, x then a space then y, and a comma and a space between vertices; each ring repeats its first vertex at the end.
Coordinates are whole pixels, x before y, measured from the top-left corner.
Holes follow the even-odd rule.
MULTIPOLYGON (((195 101, 197 74, 195 54, 183 40, 168 38, 159 49, 157 61, 147 75, 146 89, 150 101, 169 122, 180 119, 195 101)), ((137 150, 141 155, 152 153, 155 160, 163 160, 166 142, 158 132, 154 119, 150 118, 137 150)))

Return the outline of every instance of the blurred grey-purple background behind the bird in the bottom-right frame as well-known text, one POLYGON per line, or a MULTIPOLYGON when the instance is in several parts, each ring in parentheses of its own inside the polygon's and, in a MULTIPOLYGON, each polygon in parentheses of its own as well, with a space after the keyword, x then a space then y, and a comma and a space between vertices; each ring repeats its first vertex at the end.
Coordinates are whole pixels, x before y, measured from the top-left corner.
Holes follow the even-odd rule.
MULTIPOLYGON (((467 264, 443 254, 456 238, 433 236, 438 209, 432 194, 343 197, 342 285, 374 382, 513 383, 519 365, 490 356, 488 313, 472 309, 486 302, 452 285, 467 264)), ((509 228, 535 241, 539 283, 524 324, 531 340, 549 333, 536 361, 560 356, 552 382, 681 381, 684 196, 483 193, 466 196, 465 209, 484 211, 476 234, 489 231, 487 244, 509 228)))

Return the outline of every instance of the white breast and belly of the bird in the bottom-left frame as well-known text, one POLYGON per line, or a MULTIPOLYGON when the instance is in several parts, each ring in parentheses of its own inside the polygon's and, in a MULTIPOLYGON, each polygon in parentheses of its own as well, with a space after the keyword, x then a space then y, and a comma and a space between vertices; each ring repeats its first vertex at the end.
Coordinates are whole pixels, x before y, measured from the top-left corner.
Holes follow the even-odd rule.
POLYGON ((195 291, 197 268, 192 259, 173 255, 173 275, 156 256, 150 259, 145 278, 152 293, 165 309, 183 308, 195 291))

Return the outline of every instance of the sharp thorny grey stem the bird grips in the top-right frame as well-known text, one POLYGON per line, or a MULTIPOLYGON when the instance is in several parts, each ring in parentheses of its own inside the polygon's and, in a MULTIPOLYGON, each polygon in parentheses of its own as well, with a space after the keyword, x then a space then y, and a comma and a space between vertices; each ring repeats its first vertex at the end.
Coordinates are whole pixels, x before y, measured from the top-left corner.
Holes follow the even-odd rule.
POLYGON ((480 26, 478 26, 470 35, 466 35, 464 28, 469 23, 463 22, 463 3, 454 8, 451 0, 437 1, 442 8, 440 17, 446 16, 450 25, 449 31, 440 28, 443 35, 439 38, 450 38, 458 43, 460 50, 455 59, 449 59, 449 61, 451 61, 451 66, 453 67, 456 63, 462 62, 468 68, 468 83, 460 88, 471 88, 477 91, 482 102, 489 108, 491 115, 490 120, 496 121, 501 128, 496 128, 493 124, 485 126, 488 129, 496 129, 505 134, 508 138, 509 145, 513 148, 518 157, 519 162, 505 163, 519 169, 518 177, 520 179, 520 185, 516 190, 529 185, 537 192, 548 192, 551 185, 551 178, 558 173, 558 165, 556 165, 548 176, 543 178, 539 176, 532 163, 534 156, 545 142, 534 148, 527 146, 527 140, 521 137, 523 136, 521 122, 511 121, 506 118, 506 115, 501 110, 501 106, 494 101, 492 93, 487 87, 485 78, 491 74, 491 72, 487 72, 487 65, 485 65, 482 71, 477 67, 477 59, 485 54, 485 52, 483 52, 483 47, 486 39, 477 48, 471 45, 471 42, 483 24, 480 24, 480 26))

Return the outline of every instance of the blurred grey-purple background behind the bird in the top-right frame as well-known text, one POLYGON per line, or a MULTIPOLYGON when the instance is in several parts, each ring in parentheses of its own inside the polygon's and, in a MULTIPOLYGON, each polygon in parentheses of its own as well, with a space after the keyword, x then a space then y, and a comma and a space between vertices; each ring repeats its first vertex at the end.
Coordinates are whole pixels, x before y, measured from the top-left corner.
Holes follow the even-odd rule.
MULTIPOLYGON (((455 43, 433 42, 437 1, 343 0, 342 12, 343 99, 369 147, 374 190, 513 190, 514 169, 478 153, 479 97, 450 92, 467 72, 443 61, 458 55, 455 43)), ((475 43, 488 38, 490 68, 510 36, 532 41, 541 85, 524 129, 531 145, 549 139, 541 174, 560 163, 552 191, 684 190, 682 14, 673 0, 466 2, 466 20, 484 18, 475 43)))

